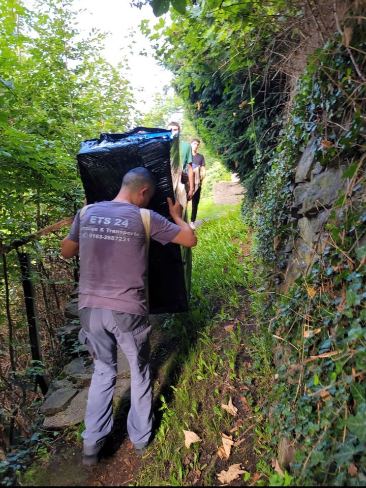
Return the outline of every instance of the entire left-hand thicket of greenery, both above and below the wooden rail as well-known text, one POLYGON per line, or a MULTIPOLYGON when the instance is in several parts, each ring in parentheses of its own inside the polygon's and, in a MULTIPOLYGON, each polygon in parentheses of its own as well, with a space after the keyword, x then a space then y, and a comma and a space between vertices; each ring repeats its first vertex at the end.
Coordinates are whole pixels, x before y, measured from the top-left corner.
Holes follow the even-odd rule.
MULTIPOLYGON (((74 215, 84 199, 76 165, 80 142, 100 132, 123 132, 133 120, 127 63, 113 67, 105 62, 105 35, 97 29, 81 38, 73 5, 71 0, 0 0, 1 246, 74 215)), ((62 325, 60 310, 75 277, 73 266, 58 257, 59 245, 56 231, 22 248, 31 254, 47 374, 57 370, 55 329, 62 325)), ((8 347, 0 354, 1 422, 14 423, 24 436, 20 444, 6 446, 7 459, 1 462, 3 481, 12 484, 37 455, 37 446, 44 443, 38 455, 45 454, 51 441, 40 432, 39 405, 29 405, 29 398, 37 398, 36 392, 29 393, 43 365, 29 361, 15 252, 6 255, 2 270, 9 286, 0 299, 0 334, 8 347), (10 371, 9 356, 15 371, 10 371)), ((3 273, 0 278, 4 285, 3 273)))

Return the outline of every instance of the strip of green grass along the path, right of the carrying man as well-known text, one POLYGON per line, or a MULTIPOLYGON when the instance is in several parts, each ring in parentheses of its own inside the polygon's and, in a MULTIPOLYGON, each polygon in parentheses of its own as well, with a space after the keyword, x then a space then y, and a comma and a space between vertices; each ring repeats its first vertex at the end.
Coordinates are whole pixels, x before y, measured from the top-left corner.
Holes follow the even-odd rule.
POLYGON ((240 293, 252 281, 250 257, 242 257, 240 248, 247 235, 238 208, 197 230, 191 311, 169 321, 170 331, 179 334, 181 341, 180 368, 172 379, 169 398, 160 398, 163 417, 154 454, 147 454, 136 486, 184 486, 193 482, 196 470, 204 485, 211 486, 215 480, 215 462, 201 456, 202 445, 215 459, 220 433, 228 432, 234 421, 221 408, 231 395, 229 390, 222 396, 224 385, 228 378, 233 384, 243 384, 248 375, 245 364, 235 364, 245 335, 240 324, 235 333, 222 334, 222 322, 235 314, 240 293), (183 429, 195 432, 202 443, 186 448, 183 429))

